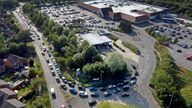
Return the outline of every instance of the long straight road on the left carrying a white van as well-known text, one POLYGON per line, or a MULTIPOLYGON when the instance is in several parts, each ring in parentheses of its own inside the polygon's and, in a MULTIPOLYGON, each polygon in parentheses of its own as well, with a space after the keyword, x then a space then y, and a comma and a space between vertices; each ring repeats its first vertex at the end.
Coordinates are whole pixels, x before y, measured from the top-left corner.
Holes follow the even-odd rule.
MULTIPOLYGON (((17 9, 18 10, 18 9, 17 9)), ((29 25, 27 22, 26 22, 26 19, 24 17, 21 17, 22 14, 19 14, 18 12, 14 11, 13 12, 14 15, 16 16, 16 18, 18 19, 19 23, 24 27, 24 28, 28 28, 29 26, 31 26, 31 28, 33 28, 33 31, 32 29, 30 30, 30 32, 33 34, 34 32, 38 35, 40 35, 40 40, 37 39, 37 36, 34 38, 34 46, 36 48, 36 53, 39 57, 39 60, 41 62, 41 66, 42 66, 42 69, 44 71, 44 77, 45 77, 45 80, 46 80, 46 83, 47 83, 47 88, 48 88, 48 91, 49 91, 49 98, 50 98, 50 103, 51 103, 51 107, 52 108, 60 108, 62 104, 64 105, 67 105, 67 103, 65 102, 64 98, 63 98, 63 94, 58 86, 58 83, 56 82, 55 78, 52 76, 51 72, 50 72, 50 69, 49 69, 49 66, 48 64, 46 63, 46 58, 48 58, 48 55, 47 53, 45 53, 45 56, 42 56, 41 52, 42 50, 40 49, 40 45, 42 45, 42 36, 41 36, 41 33, 38 32, 38 30, 33 26, 33 25, 29 25), (55 94, 56 94, 56 99, 53 99, 52 96, 51 96, 51 93, 50 93, 50 89, 51 88, 54 88, 55 90, 55 94)), ((46 48, 48 48, 47 46, 45 46, 46 48)), ((54 68, 55 69, 55 68, 54 68)))

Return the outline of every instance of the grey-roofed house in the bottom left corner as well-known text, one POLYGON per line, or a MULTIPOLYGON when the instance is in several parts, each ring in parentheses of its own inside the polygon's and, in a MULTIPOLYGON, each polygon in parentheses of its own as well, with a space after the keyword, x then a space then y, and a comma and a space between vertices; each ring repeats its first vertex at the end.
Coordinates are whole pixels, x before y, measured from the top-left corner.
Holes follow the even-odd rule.
POLYGON ((25 104, 17 100, 17 93, 9 88, 0 89, 0 108, 25 108, 25 104))

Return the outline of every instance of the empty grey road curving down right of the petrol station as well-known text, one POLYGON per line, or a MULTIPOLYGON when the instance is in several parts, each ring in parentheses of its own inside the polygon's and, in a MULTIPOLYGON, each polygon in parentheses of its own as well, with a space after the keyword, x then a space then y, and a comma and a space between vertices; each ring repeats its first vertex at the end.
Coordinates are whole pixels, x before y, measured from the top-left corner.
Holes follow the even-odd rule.
MULTIPOLYGON (((155 40, 148 36, 144 29, 137 27, 135 27, 134 33, 129 35, 115 31, 112 34, 120 40, 127 41, 140 49, 141 56, 138 64, 140 73, 137 81, 137 90, 148 103, 148 106, 142 106, 142 108, 159 108, 160 106, 153 98, 149 87, 149 80, 156 67, 156 57, 153 48, 155 40)), ((138 102, 138 104, 140 103, 138 102)))

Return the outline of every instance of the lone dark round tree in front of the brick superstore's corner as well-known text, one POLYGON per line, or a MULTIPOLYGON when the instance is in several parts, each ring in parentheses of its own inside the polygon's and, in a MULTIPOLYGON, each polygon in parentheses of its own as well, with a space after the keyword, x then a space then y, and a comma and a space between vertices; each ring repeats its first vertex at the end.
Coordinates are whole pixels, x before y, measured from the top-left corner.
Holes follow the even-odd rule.
POLYGON ((132 27, 131 27, 131 23, 128 21, 121 21, 119 24, 119 28, 125 32, 125 33, 130 33, 132 32, 132 27))

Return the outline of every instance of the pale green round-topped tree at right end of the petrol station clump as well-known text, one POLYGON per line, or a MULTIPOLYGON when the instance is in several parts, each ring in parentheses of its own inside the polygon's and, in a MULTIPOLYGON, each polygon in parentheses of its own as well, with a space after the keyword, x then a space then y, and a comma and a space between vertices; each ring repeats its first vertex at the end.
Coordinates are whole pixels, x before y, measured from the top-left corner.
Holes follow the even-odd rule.
POLYGON ((117 53, 108 54, 105 58, 105 63, 108 65, 113 76, 121 76, 128 72, 126 62, 123 60, 123 57, 117 53))

